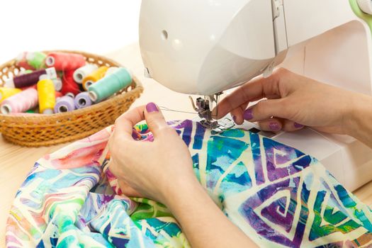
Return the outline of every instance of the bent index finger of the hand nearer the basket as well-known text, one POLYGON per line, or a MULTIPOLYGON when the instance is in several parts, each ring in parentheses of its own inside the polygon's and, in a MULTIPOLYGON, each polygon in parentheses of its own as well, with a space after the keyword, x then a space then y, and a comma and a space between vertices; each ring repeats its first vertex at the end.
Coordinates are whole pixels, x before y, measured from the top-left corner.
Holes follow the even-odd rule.
POLYGON ((120 115, 115 121, 115 134, 123 135, 126 139, 133 140, 133 127, 141 120, 145 120, 144 110, 145 106, 139 106, 120 115))

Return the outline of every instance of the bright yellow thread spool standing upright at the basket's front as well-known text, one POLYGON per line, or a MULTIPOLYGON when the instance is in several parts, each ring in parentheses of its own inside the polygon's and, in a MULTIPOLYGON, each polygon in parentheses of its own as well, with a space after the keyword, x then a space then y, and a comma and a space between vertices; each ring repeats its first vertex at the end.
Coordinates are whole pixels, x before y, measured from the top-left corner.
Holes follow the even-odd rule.
POLYGON ((50 115, 55 108, 55 84, 52 79, 38 81, 39 113, 50 115))

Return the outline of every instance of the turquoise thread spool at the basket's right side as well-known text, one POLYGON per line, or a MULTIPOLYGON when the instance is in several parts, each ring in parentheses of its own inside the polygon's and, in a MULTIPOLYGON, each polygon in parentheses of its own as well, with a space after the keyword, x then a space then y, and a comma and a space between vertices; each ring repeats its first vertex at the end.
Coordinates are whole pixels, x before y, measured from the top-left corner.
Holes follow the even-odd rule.
POLYGON ((132 83, 132 74, 128 69, 119 68, 113 74, 89 86, 91 101, 100 102, 132 83))

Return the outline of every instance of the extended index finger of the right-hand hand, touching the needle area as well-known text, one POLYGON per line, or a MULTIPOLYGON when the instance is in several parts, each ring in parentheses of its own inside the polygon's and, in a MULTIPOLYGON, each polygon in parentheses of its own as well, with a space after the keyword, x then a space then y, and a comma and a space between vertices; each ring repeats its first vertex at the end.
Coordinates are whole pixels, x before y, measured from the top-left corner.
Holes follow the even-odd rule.
POLYGON ((257 77, 252 81, 240 86, 229 96, 222 99, 218 106, 213 110, 217 118, 222 118, 233 109, 241 106, 243 103, 257 101, 261 98, 279 98, 280 91, 278 86, 278 77, 273 74, 271 77, 257 77))

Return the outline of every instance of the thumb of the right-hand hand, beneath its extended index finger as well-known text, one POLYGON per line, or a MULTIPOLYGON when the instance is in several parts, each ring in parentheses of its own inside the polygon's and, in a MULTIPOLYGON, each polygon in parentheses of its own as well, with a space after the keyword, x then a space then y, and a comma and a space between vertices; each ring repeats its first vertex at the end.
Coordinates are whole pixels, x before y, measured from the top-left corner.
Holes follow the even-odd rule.
POLYGON ((259 101, 256 105, 244 111, 243 118, 252 123, 267 120, 272 116, 287 119, 289 109, 286 108, 283 101, 284 98, 259 101))

